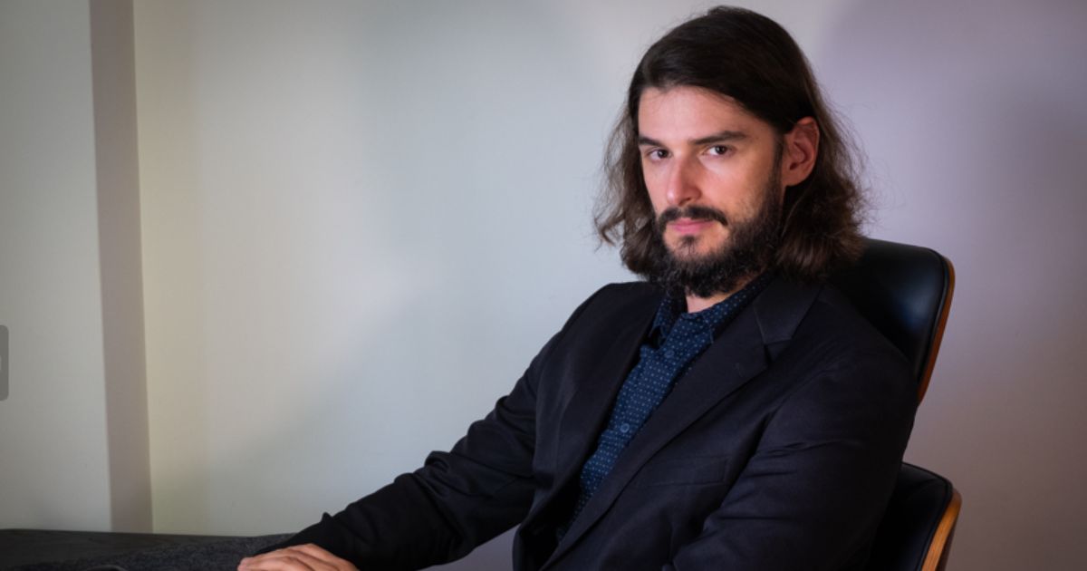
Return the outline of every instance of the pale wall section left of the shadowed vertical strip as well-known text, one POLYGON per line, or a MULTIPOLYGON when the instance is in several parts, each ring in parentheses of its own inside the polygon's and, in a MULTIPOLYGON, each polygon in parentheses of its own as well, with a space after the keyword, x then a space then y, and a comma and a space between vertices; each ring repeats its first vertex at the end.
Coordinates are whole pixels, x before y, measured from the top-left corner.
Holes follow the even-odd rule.
POLYGON ((0 2, 0 527, 110 527, 89 12, 0 2))

